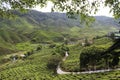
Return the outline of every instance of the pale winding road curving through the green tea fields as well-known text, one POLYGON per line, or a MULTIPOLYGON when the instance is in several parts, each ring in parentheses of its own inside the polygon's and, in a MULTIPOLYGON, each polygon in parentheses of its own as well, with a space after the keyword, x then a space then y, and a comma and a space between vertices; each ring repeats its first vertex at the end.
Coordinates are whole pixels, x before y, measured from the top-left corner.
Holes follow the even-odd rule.
MULTIPOLYGON (((62 61, 65 61, 68 56, 69 56, 68 52, 66 51, 65 57, 62 59, 62 61)), ((83 71, 83 72, 66 72, 66 71, 63 71, 60 68, 60 63, 59 63, 58 67, 57 67, 57 74, 91 74, 91 73, 101 73, 101 72, 109 72, 109 71, 115 71, 115 70, 120 70, 120 68, 117 68, 117 69, 95 70, 95 71, 83 71)))

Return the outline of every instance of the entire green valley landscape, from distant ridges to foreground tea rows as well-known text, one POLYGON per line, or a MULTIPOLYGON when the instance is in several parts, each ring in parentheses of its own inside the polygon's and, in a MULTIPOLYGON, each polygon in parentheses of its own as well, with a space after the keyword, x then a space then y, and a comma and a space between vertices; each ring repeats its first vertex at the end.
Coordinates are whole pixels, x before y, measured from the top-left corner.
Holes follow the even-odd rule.
POLYGON ((118 31, 117 20, 95 16, 88 27, 65 13, 13 12, 14 20, 0 18, 0 80, 120 79, 120 70, 111 70, 120 68, 120 49, 105 53, 115 43, 108 33, 118 31), (106 71, 57 74, 59 65, 65 72, 106 71))

